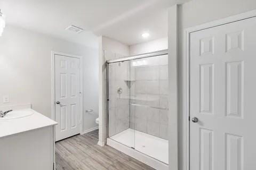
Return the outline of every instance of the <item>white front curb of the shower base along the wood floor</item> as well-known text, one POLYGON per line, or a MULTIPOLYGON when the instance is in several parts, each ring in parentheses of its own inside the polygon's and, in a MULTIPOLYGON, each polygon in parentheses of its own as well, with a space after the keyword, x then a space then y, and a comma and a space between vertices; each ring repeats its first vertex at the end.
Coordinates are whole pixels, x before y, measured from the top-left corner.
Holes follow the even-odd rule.
POLYGON ((154 159, 150 156, 147 156, 145 154, 142 154, 141 152, 132 149, 130 147, 126 147, 125 145, 114 141, 113 139, 107 139, 107 145, 109 145, 110 147, 113 147, 121 152, 123 152, 126 155, 129 155, 137 160, 139 160, 140 162, 147 164, 148 166, 151 166, 155 169, 161 169, 161 170, 168 170, 168 165, 157 160, 154 159))

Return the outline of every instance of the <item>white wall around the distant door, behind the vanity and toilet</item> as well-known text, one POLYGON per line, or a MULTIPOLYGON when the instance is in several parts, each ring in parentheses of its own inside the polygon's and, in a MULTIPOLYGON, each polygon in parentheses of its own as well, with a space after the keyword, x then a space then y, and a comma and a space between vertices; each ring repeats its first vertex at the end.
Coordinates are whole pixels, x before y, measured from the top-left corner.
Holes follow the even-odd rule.
POLYGON ((51 117, 52 50, 84 57, 84 108, 95 111, 84 114, 84 130, 93 128, 98 117, 98 50, 10 25, 0 37, 0 106, 9 95, 7 105, 31 103, 51 117))

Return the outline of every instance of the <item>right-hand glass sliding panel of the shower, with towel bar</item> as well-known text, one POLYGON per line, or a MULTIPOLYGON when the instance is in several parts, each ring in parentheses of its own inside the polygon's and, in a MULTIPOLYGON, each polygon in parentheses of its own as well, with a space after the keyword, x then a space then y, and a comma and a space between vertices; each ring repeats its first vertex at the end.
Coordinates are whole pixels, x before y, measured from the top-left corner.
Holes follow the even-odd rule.
POLYGON ((131 61, 135 149, 168 164, 168 56, 131 61))

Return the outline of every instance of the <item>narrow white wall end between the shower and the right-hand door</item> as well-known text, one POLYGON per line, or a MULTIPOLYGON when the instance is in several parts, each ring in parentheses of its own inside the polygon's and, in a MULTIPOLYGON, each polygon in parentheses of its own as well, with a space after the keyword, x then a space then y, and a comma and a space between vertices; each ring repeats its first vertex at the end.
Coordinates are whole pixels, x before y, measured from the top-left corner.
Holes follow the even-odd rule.
POLYGON ((178 5, 168 10, 169 169, 178 170, 178 5))

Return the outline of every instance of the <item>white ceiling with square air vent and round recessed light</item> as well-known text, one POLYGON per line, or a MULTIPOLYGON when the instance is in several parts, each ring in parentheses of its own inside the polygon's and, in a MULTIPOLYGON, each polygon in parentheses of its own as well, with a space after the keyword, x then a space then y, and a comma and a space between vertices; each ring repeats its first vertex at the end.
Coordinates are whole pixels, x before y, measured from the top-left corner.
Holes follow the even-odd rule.
POLYGON ((1 0, 6 23, 89 47, 103 35, 126 45, 167 36, 167 8, 183 0, 1 0), (65 30, 76 25, 85 31, 65 30), (148 39, 141 33, 150 32, 148 39))

